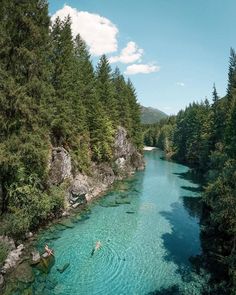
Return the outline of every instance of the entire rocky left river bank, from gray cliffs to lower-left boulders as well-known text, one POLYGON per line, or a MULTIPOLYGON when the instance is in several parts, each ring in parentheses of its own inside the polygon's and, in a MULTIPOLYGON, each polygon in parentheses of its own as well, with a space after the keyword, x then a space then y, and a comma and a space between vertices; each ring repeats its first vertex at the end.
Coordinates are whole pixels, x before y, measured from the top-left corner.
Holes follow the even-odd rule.
MULTIPOLYGON (((5 280, 14 277, 12 273, 17 272, 22 262, 26 260, 28 264, 32 263, 30 256, 35 252, 33 244, 40 229, 44 229, 48 224, 63 223, 65 220, 62 218, 68 216, 80 216, 86 206, 109 191, 115 181, 129 177, 136 170, 144 169, 144 161, 142 155, 137 152, 127 138, 126 130, 123 127, 118 127, 112 163, 92 163, 91 173, 88 175, 79 172, 73 173, 72 166, 72 158, 64 148, 52 149, 48 184, 55 186, 65 183, 65 207, 58 214, 49 216, 36 231, 35 229, 34 232, 29 231, 24 236, 18 237, 17 240, 11 240, 11 243, 4 242, 4 245, 9 248, 9 253, 5 262, 2 263, 0 289, 4 288, 5 280), (14 246, 11 247, 13 244, 14 246)), ((2 240, 5 241, 4 236, 2 240)), ((28 267, 26 269, 28 270, 28 267)))

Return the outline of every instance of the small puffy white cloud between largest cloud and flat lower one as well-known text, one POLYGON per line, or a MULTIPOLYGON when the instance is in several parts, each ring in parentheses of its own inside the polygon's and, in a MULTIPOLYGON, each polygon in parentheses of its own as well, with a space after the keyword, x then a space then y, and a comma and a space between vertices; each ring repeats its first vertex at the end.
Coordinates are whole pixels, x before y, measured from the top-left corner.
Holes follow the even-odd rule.
POLYGON ((143 49, 138 48, 137 44, 133 41, 127 43, 126 47, 121 50, 118 56, 109 58, 110 63, 122 62, 124 64, 140 61, 143 55, 143 49))

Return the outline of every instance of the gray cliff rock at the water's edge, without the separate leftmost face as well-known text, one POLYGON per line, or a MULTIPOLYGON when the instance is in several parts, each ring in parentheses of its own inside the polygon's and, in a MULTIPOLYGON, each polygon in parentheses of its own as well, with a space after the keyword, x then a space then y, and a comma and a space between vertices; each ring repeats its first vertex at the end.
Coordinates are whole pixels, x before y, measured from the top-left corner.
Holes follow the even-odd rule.
MULTIPOLYGON (((136 169, 144 168, 144 161, 134 146, 127 139, 127 131, 118 127, 114 142, 114 163, 118 172, 126 174, 136 169)), ((69 188, 68 201, 73 208, 91 201, 102 194, 114 182, 120 178, 115 175, 110 164, 93 164, 91 176, 78 173, 69 188)), ((116 171, 117 172, 117 171, 116 171)))

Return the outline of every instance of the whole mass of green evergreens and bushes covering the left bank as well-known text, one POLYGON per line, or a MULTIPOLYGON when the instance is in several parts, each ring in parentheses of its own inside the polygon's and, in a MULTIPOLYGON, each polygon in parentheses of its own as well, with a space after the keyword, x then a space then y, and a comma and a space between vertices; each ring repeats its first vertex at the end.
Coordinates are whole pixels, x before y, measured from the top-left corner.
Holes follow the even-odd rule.
POLYGON ((85 42, 72 37, 69 17, 49 26, 45 0, 1 2, 1 232, 15 236, 64 207, 65 188, 48 185, 52 147, 70 153, 73 173, 89 173, 92 161, 112 161, 119 125, 142 144, 131 82, 121 78, 121 106, 106 56, 95 71, 85 42))

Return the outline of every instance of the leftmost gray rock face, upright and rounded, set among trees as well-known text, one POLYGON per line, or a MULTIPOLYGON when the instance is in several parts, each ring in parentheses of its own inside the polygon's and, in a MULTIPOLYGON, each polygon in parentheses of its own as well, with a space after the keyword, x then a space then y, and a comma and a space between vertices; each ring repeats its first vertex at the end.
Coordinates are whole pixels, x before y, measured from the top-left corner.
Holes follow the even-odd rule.
POLYGON ((49 163, 49 184, 58 185, 68 178, 72 178, 71 157, 63 147, 55 147, 49 163))

